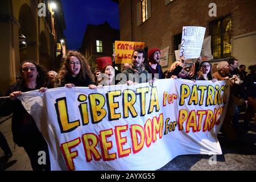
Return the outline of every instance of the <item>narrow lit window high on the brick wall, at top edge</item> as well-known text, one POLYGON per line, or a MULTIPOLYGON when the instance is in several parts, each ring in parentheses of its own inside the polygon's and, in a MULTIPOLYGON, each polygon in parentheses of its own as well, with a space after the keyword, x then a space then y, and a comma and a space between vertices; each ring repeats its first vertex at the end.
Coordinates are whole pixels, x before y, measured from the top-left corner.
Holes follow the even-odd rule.
POLYGON ((137 26, 151 16, 151 0, 140 0, 137 3, 137 26))

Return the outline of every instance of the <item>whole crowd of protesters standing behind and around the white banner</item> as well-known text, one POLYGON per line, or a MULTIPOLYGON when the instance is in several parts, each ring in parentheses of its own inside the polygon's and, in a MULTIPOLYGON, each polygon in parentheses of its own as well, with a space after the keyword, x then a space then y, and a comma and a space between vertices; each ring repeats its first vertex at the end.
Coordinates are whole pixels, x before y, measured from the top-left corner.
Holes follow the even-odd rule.
MULTIPOLYGON (((193 80, 194 82, 197 80, 210 80, 212 82, 227 80, 232 85, 232 89, 230 89, 230 102, 223 124, 224 133, 226 133, 229 139, 234 139, 236 134, 241 131, 238 126, 238 114, 240 113, 241 105, 247 106, 244 117, 244 129, 249 129, 250 119, 255 116, 256 109, 256 65, 250 66, 250 73, 247 73, 245 65, 240 65, 238 70, 239 64, 237 59, 232 58, 221 61, 212 66, 210 61, 203 61, 199 57, 191 67, 185 67, 185 57, 180 57, 179 61, 175 61, 168 71, 163 73, 162 67, 159 64, 159 48, 149 49, 147 58, 146 52, 143 49, 135 49, 131 56, 131 63, 124 64, 121 76, 118 76, 120 72, 114 68, 115 55, 113 55, 113 59, 112 57, 97 58, 97 68, 94 72, 85 57, 77 51, 69 51, 67 53, 67 57, 58 73, 55 71, 46 73, 43 67, 34 61, 26 60, 20 64, 20 78, 14 85, 10 86, 6 93, 6 96, 10 98, 0 100, 0 115, 13 114, 12 131, 14 142, 18 146, 23 147, 27 152, 32 169, 50 169, 48 147, 42 134, 36 127, 34 119, 24 109, 17 96, 20 96, 23 92, 36 89, 39 89, 40 92, 44 92, 47 88, 60 86, 67 88, 88 86, 90 89, 100 89, 102 86, 117 84, 133 85, 163 78, 183 78, 193 80), (38 164, 39 151, 47 152, 46 165, 38 164)), ((4 150, 5 156, 10 158, 12 155, 11 150, 1 133, 0 139, 1 148, 4 150)))

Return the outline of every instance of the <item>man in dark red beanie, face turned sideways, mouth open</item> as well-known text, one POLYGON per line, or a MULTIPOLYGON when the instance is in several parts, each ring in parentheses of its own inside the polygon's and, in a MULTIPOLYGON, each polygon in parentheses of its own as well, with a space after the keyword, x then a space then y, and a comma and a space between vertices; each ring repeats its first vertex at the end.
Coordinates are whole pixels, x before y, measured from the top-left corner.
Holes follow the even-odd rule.
POLYGON ((152 74, 152 78, 163 79, 162 67, 159 64, 160 62, 160 49, 151 48, 147 52, 148 63, 146 64, 146 69, 149 73, 152 74))

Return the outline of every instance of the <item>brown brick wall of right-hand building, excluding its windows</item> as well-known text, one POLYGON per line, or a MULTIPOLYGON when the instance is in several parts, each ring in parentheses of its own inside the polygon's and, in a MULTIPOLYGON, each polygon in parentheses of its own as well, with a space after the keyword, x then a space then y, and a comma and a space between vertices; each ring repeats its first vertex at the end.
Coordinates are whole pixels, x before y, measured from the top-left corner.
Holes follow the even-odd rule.
MULTIPOLYGON (((137 26, 137 1, 132 1, 133 10, 133 34, 129 27, 129 1, 119 1, 120 16, 120 38, 121 40, 131 40, 146 42, 148 48, 159 47, 160 49, 170 47, 168 67, 174 60, 174 35, 180 34, 183 26, 203 26, 207 28, 205 36, 209 35, 209 22, 222 18, 226 15, 232 16, 232 38, 256 30, 256 6, 254 0, 216 0, 217 16, 210 17, 209 3, 212 1, 187 1, 175 0, 168 5, 164 5, 164 0, 151 0, 151 17, 146 22, 137 26), (126 7, 127 6, 127 7, 126 7)), ((233 40, 233 43, 245 46, 248 42, 233 40), (242 44, 241 44, 242 43, 242 44)), ((248 40, 250 41, 250 40, 248 40)), ((255 42, 254 42, 255 45, 255 42)), ((235 48, 235 46, 233 46, 235 48)), ((233 49, 233 55, 243 57, 243 51, 237 52, 233 49)), ((254 57, 255 60, 255 57, 254 57)), ((249 64, 246 60, 241 60, 240 64, 249 64)), ((167 69, 167 68, 166 68, 167 69)), ((165 70, 165 69, 164 69, 165 70)))

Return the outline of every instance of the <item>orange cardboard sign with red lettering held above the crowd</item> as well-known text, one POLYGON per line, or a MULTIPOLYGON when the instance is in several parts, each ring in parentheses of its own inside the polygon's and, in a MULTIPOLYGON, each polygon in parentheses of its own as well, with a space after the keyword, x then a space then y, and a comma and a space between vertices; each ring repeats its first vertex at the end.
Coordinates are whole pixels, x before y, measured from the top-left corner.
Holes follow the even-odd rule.
POLYGON ((131 63, 133 51, 137 48, 144 49, 144 42, 115 41, 115 63, 131 63))

